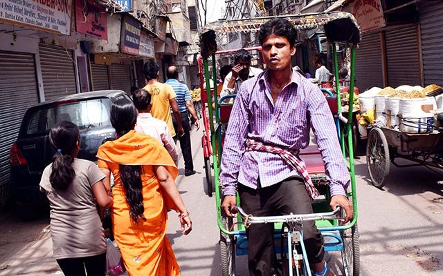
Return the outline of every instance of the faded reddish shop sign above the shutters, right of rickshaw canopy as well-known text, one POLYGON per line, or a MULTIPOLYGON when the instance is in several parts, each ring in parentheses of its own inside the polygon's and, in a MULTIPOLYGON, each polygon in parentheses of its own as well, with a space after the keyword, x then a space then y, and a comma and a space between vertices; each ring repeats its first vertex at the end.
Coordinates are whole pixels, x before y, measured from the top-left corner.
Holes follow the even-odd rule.
POLYGON ((386 26, 380 0, 356 0, 343 10, 354 14, 361 32, 386 26))

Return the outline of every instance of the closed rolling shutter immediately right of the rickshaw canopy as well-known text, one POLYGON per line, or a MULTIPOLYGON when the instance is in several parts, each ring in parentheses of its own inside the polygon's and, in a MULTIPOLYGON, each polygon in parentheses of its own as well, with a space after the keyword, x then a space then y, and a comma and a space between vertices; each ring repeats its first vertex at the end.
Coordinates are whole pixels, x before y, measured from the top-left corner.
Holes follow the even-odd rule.
POLYGON ((374 86, 383 88, 382 64, 380 33, 363 34, 355 62, 355 85, 361 92, 374 86))

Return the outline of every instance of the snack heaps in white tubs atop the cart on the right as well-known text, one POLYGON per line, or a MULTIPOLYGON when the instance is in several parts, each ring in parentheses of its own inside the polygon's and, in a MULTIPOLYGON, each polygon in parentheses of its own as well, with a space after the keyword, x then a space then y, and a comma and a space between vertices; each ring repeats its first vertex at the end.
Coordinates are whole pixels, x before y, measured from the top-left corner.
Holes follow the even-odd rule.
POLYGON ((437 115, 443 112, 443 90, 436 84, 373 87, 359 95, 361 114, 359 132, 366 135, 366 127, 387 127, 406 133, 437 131, 437 115))

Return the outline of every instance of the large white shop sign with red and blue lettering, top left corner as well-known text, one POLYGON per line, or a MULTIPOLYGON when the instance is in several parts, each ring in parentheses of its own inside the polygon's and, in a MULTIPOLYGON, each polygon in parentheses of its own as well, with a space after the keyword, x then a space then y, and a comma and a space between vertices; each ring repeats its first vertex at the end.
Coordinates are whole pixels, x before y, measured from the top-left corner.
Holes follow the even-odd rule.
POLYGON ((71 34, 72 0, 1 0, 0 21, 71 34))

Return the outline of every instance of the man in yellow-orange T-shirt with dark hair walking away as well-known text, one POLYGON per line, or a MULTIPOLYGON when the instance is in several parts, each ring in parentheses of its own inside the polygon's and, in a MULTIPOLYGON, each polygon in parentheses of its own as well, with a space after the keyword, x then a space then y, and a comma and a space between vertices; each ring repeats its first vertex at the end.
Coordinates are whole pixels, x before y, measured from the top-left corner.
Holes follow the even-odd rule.
POLYGON ((160 67, 155 61, 147 61, 145 63, 143 75, 145 75, 147 84, 143 89, 152 95, 152 117, 165 121, 168 124, 172 137, 177 139, 184 134, 179 106, 177 106, 176 95, 172 87, 159 82, 159 70, 160 67), (172 110, 174 118, 177 120, 177 133, 174 130, 174 124, 172 124, 170 110, 172 110))

